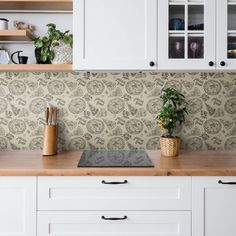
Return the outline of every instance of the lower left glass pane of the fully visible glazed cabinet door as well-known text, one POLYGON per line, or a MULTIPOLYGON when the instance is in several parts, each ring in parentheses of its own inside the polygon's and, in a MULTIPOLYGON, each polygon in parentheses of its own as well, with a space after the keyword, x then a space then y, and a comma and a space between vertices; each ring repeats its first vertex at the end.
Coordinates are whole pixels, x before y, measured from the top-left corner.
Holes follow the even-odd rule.
POLYGON ((169 37, 169 58, 184 58, 184 37, 169 37))

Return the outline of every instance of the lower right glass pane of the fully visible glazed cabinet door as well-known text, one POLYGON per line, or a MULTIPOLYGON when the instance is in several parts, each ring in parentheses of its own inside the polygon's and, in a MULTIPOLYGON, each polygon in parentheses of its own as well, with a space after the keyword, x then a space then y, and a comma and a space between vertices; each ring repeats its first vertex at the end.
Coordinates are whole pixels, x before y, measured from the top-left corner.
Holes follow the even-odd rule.
POLYGON ((188 38, 188 58, 203 58, 204 56, 204 38, 188 38))

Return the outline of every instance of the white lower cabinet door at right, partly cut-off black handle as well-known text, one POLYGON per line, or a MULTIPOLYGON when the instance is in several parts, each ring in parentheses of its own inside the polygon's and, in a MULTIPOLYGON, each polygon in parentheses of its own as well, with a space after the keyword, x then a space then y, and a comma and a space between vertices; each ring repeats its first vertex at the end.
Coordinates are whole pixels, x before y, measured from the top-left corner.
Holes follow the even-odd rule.
POLYGON ((236 235, 235 184, 236 177, 193 177, 193 236, 236 235))

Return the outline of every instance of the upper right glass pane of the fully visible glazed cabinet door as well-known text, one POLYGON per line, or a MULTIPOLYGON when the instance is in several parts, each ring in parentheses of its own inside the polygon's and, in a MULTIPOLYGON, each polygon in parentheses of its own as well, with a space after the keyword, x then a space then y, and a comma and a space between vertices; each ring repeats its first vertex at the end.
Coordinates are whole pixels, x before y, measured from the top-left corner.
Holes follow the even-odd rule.
POLYGON ((204 30, 204 6, 188 6, 188 30, 204 30))

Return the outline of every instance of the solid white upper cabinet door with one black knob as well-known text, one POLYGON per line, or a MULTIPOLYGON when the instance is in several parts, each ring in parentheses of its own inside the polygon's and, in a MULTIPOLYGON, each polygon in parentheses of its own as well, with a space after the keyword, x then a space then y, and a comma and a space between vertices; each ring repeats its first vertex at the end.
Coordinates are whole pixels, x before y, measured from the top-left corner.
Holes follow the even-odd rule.
POLYGON ((74 70, 156 69, 157 0, 74 0, 73 9, 74 70))

